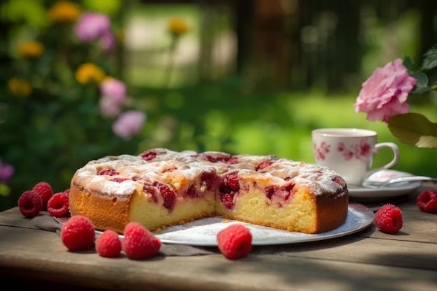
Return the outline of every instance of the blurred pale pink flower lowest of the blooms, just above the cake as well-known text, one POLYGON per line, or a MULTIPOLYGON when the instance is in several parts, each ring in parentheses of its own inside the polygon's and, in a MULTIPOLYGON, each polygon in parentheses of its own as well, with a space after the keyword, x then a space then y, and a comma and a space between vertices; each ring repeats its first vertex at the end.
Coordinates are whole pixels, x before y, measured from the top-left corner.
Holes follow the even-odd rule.
POLYGON ((131 110, 120 114, 112 124, 112 131, 124 140, 129 140, 133 135, 140 132, 146 121, 145 112, 131 110))

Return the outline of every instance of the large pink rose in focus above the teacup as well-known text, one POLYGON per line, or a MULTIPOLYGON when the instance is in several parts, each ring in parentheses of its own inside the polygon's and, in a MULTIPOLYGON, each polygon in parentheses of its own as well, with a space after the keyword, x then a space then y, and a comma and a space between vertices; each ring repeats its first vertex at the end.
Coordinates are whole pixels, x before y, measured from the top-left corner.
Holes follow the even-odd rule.
POLYGON ((408 75, 402 59, 388 63, 384 68, 376 68, 362 84, 357 102, 353 105, 355 112, 366 112, 367 120, 388 124, 390 117, 408 112, 410 105, 406 100, 416 82, 416 78, 408 75))

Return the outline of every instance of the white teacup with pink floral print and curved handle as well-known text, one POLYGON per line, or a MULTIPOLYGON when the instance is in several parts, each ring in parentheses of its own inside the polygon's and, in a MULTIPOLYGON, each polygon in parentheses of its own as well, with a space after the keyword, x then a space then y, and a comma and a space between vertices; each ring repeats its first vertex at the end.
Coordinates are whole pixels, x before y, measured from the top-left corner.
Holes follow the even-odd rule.
POLYGON ((360 186, 370 174, 393 167, 399 161, 397 144, 376 143, 378 133, 373 130, 319 128, 312 131, 311 137, 316 163, 337 172, 350 186, 360 186), (383 147, 392 149, 392 161, 371 169, 375 154, 383 147))

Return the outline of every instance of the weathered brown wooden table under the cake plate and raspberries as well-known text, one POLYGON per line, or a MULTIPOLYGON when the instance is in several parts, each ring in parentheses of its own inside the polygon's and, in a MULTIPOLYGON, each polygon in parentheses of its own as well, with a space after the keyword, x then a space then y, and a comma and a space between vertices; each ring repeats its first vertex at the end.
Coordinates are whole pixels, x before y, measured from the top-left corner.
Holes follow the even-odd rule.
POLYGON ((403 227, 396 235, 372 224, 324 241, 256 246, 234 261, 218 252, 102 258, 92 250, 67 251, 56 232, 2 225, 1 290, 35 290, 37 284, 41 290, 437 290, 437 214, 415 204, 425 187, 431 185, 399 202, 403 227))

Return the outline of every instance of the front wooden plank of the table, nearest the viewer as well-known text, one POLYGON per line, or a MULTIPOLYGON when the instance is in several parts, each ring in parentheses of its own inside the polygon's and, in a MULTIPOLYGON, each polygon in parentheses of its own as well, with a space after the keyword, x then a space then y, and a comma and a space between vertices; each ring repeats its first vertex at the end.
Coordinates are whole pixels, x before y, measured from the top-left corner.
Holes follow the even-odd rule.
MULTIPOLYGON (((60 260, 61 264, 52 267, 41 265, 39 271, 22 271, 36 272, 46 280, 107 290, 435 291, 437 284, 435 271, 281 255, 251 255, 232 262, 222 255, 149 261, 83 260, 83 254, 71 255, 77 260, 60 260), (71 282, 71 278, 75 280, 71 282)), ((38 266, 38 262, 30 258, 27 263, 38 266)))

